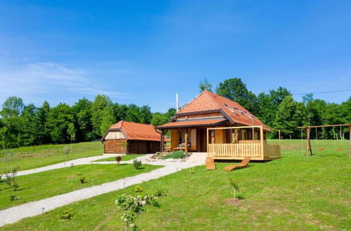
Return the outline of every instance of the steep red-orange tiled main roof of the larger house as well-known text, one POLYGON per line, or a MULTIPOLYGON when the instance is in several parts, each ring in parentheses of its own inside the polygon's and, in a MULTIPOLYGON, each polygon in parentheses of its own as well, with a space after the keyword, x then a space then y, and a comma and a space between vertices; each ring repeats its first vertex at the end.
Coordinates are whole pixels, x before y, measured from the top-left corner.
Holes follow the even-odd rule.
POLYGON ((270 129, 258 120, 256 116, 253 116, 252 113, 244 109, 244 107, 237 102, 233 102, 230 99, 221 97, 213 92, 208 92, 207 90, 204 90, 204 92, 192 99, 192 101, 185 105, 183 109, 180 109, 178 113, 193 113, 211 110, 222 110, 223 113, 225 113, 226 118, 232 120, 232 123, 239 123, 248 126, 263 125, 265 130, 270 131, 270 129))

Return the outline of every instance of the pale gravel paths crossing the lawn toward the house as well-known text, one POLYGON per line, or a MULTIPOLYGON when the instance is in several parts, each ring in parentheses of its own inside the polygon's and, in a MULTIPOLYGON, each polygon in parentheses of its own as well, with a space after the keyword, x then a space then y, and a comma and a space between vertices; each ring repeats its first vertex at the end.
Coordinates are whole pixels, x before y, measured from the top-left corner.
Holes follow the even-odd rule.
MULTIPOLYGON (((119 190, 128 186, 132 186, 138 183, 142 183, 144 181, 150 181, 152 179, 158 179, 161 176, 166 176, 168 174, 173 174, 175 172, 180 171, 181 169, 186 169, 189 167, 194 167, 197 165, 202 165, 201 163, 196 163, 196 162, 145 162, 146 157, 140 157, 138 159, 141 159, 143 163, 147 163, 149 165, 165 165, 165 167, 161 169, 156 169, 153 170, 152 172, 147 172, 143 174, 139 174, 137 176, 131 176, 127 177, 125 179, 119 179, 118 181, 112 181, 109 183, 103 183, 100 186, 93 186, 90 188, 83 188, 80 190, 75 190, 70 193, 65 193, 62 195, 54 196, 54 197, 49 197, 44 200, 39 200, 37 202, 29 202, 27 204, 22 204, 17 207, 12 207, 9 209, 4 209, 0 211, 0 227, 6 224, 10 223, 15 223, 17 221, 20 221, 22 218, 27 218, 31 216, 37 216, 39 214, 43 213, 46 211, 50 211, 52 209, 62 207, 66 204, 70 204, 73 202, 77 202, 80 200, 85 200, 91 197, 95 197, 97 195, 101 195, 104 193, 110 193, 115 190, 119 190)), ((92 158, 82 158, 75 160, 75 163, 79 162, 80 165, 86 165, 86 164, 105 164, 106 162, 90 162, 91 160, 98 160, 101 158, 99 157, 92 157, 92 158), (88 163, 86 161, 90 160, 88 163)), ((72 161, 74 162, 74 161, 72 161)), ((128 160, 125 161, 127 162, 133 162, 133 160, 128 160)), ((115 164, 115 162, 109 162, 108 164, 115 164)), ((107 164, 107 163, 106 163, 107 164)), ((77 165, 77 164, 74 164, 77 165)), ((78 164, 79 165, 79 164, 78 164)), ((41 171, 38 169, 32 169, 32 170, 27 170, 27 171, 22 171, 22 172, 27 172, 27 174, 34 173, 34 172, 42 172, 42 171, 47 171, 49 169, 56 169, 62 167, 62 163, 58 164, 57 167, 56 165, 51 165, 48 167, 42 167, 39 168, 41 171), (42 170, 45 169, 45 170, 42 170), (33 170, 36 170, 34 172, 31 172, 33 170), (30 173, 29 173, 30 172, 30 173)), ((19 172, 20 173, 20 172, 19 172)), ((24 174, 22 174, 24 175, 24 174)))

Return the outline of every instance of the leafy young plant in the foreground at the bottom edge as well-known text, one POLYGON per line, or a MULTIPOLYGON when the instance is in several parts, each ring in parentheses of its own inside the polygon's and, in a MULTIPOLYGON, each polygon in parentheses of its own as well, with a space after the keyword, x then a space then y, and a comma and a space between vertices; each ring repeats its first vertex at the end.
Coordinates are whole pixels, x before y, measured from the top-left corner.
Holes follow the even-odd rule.
MULTIPOLYGON (((164 194, 165 195, 165 194, 164 194)), ((128 230, 138 230, 138 226, 135 225, 134 221, 141 214, 142 211, 146 211, 146 205, 152 205, 154 207, 160 207, 159 202, 157 202, 158 197, 156 195, 146 195, 144 197, 133 197, 132 195, 123 194, 117 197, 115 203, 119 208, 124 210, 123 216, 121 216, 124 221, 124 228, 128 230)))

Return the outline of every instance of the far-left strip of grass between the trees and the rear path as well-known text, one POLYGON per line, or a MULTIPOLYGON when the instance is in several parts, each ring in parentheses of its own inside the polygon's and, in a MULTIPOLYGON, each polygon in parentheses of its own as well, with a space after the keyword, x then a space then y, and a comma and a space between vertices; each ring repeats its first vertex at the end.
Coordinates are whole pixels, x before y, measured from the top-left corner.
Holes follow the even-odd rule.
POLYGON ((103 144, 101 142, 83 142, 72 144, 72 150, 66 158, 65 149, 70 150, 70 148, 70 144, 48 144, 13 148, 8 151, 8 162, 6 162, 4 151, 0 151, 0 174, 6 172, 6 169, 12 169, 15 166, 20 167, 18 171, 22 171, 54 165, 65 162, 66 160, 101 155, 103 152, 103 144))

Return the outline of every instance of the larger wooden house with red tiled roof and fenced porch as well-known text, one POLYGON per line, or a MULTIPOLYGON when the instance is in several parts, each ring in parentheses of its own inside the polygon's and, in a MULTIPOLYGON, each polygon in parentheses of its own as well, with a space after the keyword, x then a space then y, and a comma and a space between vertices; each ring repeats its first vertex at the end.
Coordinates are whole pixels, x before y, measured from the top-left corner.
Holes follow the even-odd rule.
POLYGON ((171 131, 171 151, 204 153, 215 160, 280 158, 280 146, 265 139, 270 128, 237 102, 207 90, 157 129, 171 131))

